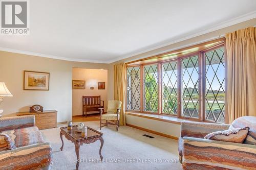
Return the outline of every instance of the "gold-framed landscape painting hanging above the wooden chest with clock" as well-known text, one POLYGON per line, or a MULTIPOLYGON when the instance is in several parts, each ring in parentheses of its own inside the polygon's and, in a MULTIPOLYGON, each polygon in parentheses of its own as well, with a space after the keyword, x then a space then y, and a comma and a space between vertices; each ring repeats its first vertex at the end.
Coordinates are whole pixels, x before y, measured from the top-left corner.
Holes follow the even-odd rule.
POLYGON ((24 71, 24 90, 49 90, 49 72, 24 71))

